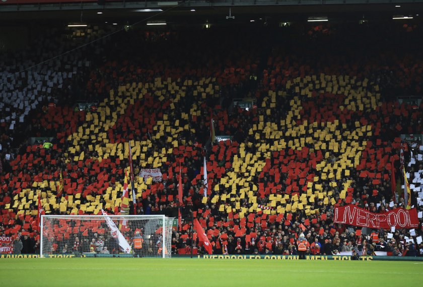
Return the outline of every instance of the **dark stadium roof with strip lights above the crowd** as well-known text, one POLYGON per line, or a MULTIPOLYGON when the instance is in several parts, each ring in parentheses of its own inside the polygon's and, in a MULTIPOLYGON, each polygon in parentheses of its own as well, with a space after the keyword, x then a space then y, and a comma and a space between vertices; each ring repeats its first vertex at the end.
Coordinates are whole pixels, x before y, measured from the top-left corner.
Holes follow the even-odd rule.
POLYGON ((333 21, 389 20, 393 16, 423 17, 423 0, 406 3, 398 0, 323 0, 323 1, 175 1, 130 2, 92 0, 1 0, 0 22, 18 24, 27 21, 134 23, 146 18, 174 24, 196 24, 208 20, 214 24, 307 21, 309 17, 327 17, 333 21), (389 3, 388 3, 389 2, 389 3), (323 3, 323 4, 322 4, 323 3), (230 15, 235 19, 227 19, 230 15), (195 10, 195 11, 193 11, 195 10), (100 14, 101 13, 101 14, 100 14), (416 16, 421 13, 421 16, 416 16))

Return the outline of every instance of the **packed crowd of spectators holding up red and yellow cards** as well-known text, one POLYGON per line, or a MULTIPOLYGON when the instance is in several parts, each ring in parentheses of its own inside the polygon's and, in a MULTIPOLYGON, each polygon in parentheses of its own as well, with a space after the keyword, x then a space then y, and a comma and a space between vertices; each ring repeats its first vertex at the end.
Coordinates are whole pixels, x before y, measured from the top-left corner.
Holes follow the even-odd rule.
MULTIPOLYGON (((118 213, 131 140, 135 171, 160 168, 163 174, 158 183, 137 177, 137 214, 176 218, 181 205, 173 253, 199 247, 191 233, 196 218, 215 254, 297 254, 296 239, 304 233, 308 254, 356 250, 422 256, 423 245, 416 239, 422 235, 421 218, 415 236, 402 229, 389 239, 388 231, 375 231, 377 237, 370 238, 355 227, 333 223, 335 205, 357 204, 373 212, 404 206, 400 135, 421 136, 423 105, 400 104, 397 97, 421 100, 417 27, 284 29, 249 35, 122 32, 106 42, 107 48, 94 47, 97 60, 81 69, 73 68, 87 62, 82 54, 69 56, 75 76, 68 84, 75 89, 52 80, 47 90, 48 78, 33 77, 31 87, 40 86, 39 96, 47 99, 37 100, 22 125, 12 131, 11 120, 22 113, 0 107, 11 116, 0 124, 0 233, 18 235, 14 252, 20 245, 21 252, 39 249, 38 193, 47 214, 97 214, 101 208, 118 213), (76 94, 99 105, 75 109, 76 94), (48 105, 49 97, 57 98, 56 106, 48 105), (234 106, 238 98, 254 99, 254 105, 234 106), (232 140, 208 143, 212 121, 216 134, 232 140), (53 145, 30 145, 29 136, 51 136, 53 145), (180 165, 182 202, 177 200, 180 165), (60 173, 64 192, 57 196, 60 173)), ((61 66, 49 67, 50 74, 48 69, 39 72, 57 75, 61 66)), ((8 93, 2 97, 9 99, 8 93)), ((422 211, 419 145, 409 145, 405 163, 412 205, 422 211)), ((53 238, 50 252, 72 253, 76 238, 87 242, 81 252, 91 247, 119 252, 110 238, 80 233, 53 238)), ((199 247, 198 252, 204 251, 199 247)))

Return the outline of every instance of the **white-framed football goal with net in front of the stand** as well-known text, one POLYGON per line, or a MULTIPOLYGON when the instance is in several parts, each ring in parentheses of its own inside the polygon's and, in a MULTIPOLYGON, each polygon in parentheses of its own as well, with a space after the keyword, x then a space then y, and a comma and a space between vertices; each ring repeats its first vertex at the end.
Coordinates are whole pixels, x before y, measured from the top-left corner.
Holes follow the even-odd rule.
POLYGON ((163 215, 44 215, 40 256, 171 257, 172 223, 163 215))

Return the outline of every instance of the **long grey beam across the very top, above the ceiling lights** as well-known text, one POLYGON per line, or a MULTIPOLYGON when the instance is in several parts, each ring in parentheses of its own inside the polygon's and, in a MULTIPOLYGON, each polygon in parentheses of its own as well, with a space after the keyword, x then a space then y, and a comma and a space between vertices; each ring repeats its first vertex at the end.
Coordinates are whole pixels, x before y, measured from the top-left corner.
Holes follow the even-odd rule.
POLYGON ((190 1, 115 1, 115 0, 2 0, 0 12, 18 11, 69 11, 100 9, 162 9, 175 10, 206 9, 218 7, 265 7, 265 6, 331 6, 331 5, 375 5, 375 4, 417 4, 423 0, 190 0, 190 1), (104 4, 99 4, 103 2, 104 4))

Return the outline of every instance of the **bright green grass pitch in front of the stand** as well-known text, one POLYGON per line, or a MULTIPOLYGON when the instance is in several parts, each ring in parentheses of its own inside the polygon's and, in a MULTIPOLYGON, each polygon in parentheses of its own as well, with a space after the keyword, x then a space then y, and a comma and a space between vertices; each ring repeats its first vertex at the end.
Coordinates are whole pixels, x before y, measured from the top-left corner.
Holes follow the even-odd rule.
POLYGON ((0 286, 418 286, 423 264, 148 258, 4 258, 0 286))

